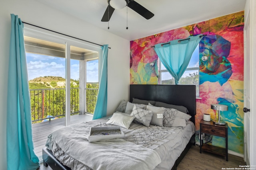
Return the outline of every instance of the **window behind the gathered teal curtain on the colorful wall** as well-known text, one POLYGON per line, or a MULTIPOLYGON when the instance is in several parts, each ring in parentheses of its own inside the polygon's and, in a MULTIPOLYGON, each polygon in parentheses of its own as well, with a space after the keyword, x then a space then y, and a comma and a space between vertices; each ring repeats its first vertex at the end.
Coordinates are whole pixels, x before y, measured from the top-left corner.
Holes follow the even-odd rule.
MULTIPOLYGON (((179 84, 196 85, 196 96, 199 97, 199 45, 192 54, 188 67, 179 80, 179 84)), ((166 70, 162 62, 159 64, 158 84, 175 84, 174 78, 166 70)))

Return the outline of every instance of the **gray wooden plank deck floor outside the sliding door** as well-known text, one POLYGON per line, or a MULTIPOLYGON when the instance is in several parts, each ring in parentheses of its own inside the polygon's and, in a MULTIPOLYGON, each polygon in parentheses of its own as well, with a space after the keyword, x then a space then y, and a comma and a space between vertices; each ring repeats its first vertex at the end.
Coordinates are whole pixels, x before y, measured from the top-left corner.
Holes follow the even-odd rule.
MULTIPOLYGON (((70 119, 71 125, 73 125, 75 123, 92 120, 92 115, 72 115, 70 119)), ((44 121, 42 123, 32 124, 34 151, 39 159, 42 159, 42 148, 45 147, 48 135, 64 126, 65 118, 59 118, 51 121, 44 121)))

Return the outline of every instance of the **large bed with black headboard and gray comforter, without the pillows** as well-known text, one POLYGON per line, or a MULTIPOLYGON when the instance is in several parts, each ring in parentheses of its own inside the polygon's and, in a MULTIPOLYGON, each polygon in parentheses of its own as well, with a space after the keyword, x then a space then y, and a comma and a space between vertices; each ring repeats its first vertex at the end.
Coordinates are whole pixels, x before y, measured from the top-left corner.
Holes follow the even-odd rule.
MULTIPOLYGON (((194 143, 196 87, 194 85, 130 85, 130 100, 126 103, 126 106, 132 103, 137 104, 137 102, 143 103, 149 101, 158 102, 158 105, 164 104, 164 106, 166 106, 168 104, 172 104, 178 107, 185 107, 187 109, 186 112, 190 115, 190 119, 186 121, 186 125, 183 127, 180 127, 179 125, 175 127, 149 125, 149 127, 147 127, 142 123, 132 122, 128 129, 122 128, 125 133, 124 139, 95 142, 97 143, 98 149, 93 150, 91 150, 91 145, 94 145, 94 143, 88 143, 87 141, 81 142, 81 140, 79 143, 79 137, 83 136, 84 134, 88 134, 89 127, 105 126, 107 124, 106 122, 110 121, 112 118, 104 117, 102 119, 83 122, 73 126, 71 125, 71 127, 65 127, 67 129, 62 129, 62 131, 58 131, 56 134, 51 134, 52 136, 49 135, 52 139, 50 142, 48 141, 47 148, 44 148, 42 151, 44 166, 49 165, 54 170, 70 170, 71 168, 69 167, 72 167, 72 169, 85 170, 113 169, 113 167, 118 169, 118 165, 115 165, 117 164, 115 162, 121 161, 119 164, 125 166, 121 169, 126 168, 134 170, 139 166, 149 166, 147 169, 175 170, 186 152, 194 143), (80 130, 78 131, 77 129, 80 130), (67 135, 68 132, 70 134, 74 134, 76 132, 77 135, 67 135), (54 135, 56 135, 56 137, 54 135), (77 136, 78 139, 73 139, 74 136, 77 136), (181 136, 180 139, 178 139, 179 136, 181 136), (58 140, 65 142, 60 144, 58 143, 58 140), (66 149, 67 146, 69 147, 71 145, 70 141, 74 141, 74 144, 72 145, 81 145, 82 147, 78 149, 78 147, 73 146, 71 147, 72 149, 66 149), (102 146, 102 144, 104 146, 102 146), (104 149, 106 148, 104 147, 106 146, 109 150, 105 151, 104 149), (88 150, 86 150, 86 148, 88 148, 88 150), (129 148, 132 148, 135 151, 129 152, 129 148), (53 150, 53 152, 51 150, 53 150), (101 155, 102 152, 100 151, 103 151, 104 154, 101 155), (113 152, 112 156, 110 156, 111 152, 113 152), (118 155, 119 152, 125 153, 125 155, 130 157, 125 157, 122 159, 122 154, 118 155), (74 155, 77 153, 78 156, 74 155), (139 155, 139 153, 143 153, 143 155, 139 155), (96 157, 93 157, 95 155, 96 157), (111 162, 112 160, 114 160, 114 162, 111 162), (97 162, 98 164, 94 165, 94 162, 97 162), (104 165, 102 168, 100 167, 101 164, 106 165, 104 165), (69 167, 65 165, 68 165, 69 167)), ((140 104, 142 105, 142 103, 140 104)), ((149 106, 146 107, 153 108, 154 104, 152 106, 148 104, 149 106)), ((138 105, 136 105, 136 107, 137 106, 138 105)), ((163 106, 158 107, 162 108, 163 106)), ((112 117, 114 117, 114 114, 112 117)), ((143 167, 143 169, 146 168, 143 167)))

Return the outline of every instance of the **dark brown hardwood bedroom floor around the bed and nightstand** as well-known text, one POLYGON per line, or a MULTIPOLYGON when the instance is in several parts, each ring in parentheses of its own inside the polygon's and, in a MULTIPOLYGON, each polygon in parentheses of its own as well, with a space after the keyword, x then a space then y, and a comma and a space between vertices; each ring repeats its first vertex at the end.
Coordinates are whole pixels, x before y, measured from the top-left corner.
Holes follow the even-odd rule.
MULTIPOLYGON (((224 156, 199 152, 200 148, 192 146, 186 156, 182 159, 177 170, 222 170, 222 168, 239 168, 239 165, 246 165, 244 159, 239 156, 228 154, 228 161, 224 156)), ((41 164, 38 170, 52 170, 49 166, 41 164)))

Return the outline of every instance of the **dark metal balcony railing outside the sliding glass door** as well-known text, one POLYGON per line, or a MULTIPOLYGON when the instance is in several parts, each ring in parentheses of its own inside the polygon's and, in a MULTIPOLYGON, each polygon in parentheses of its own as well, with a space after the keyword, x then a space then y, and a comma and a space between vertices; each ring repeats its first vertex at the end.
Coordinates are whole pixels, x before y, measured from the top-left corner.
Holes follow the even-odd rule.
MULTIPOLYGON (((79 101, 79 92, 80 88, 70 89, 71 115, 80 113, 79 104, 84 103, 79 101)), ((94 113, 97 95, 98 89, 86 88, 86 113, 94 113)), ((31 89, 30 102, 32 123, 64 117, 66 114, 66 89, 31 89)))

